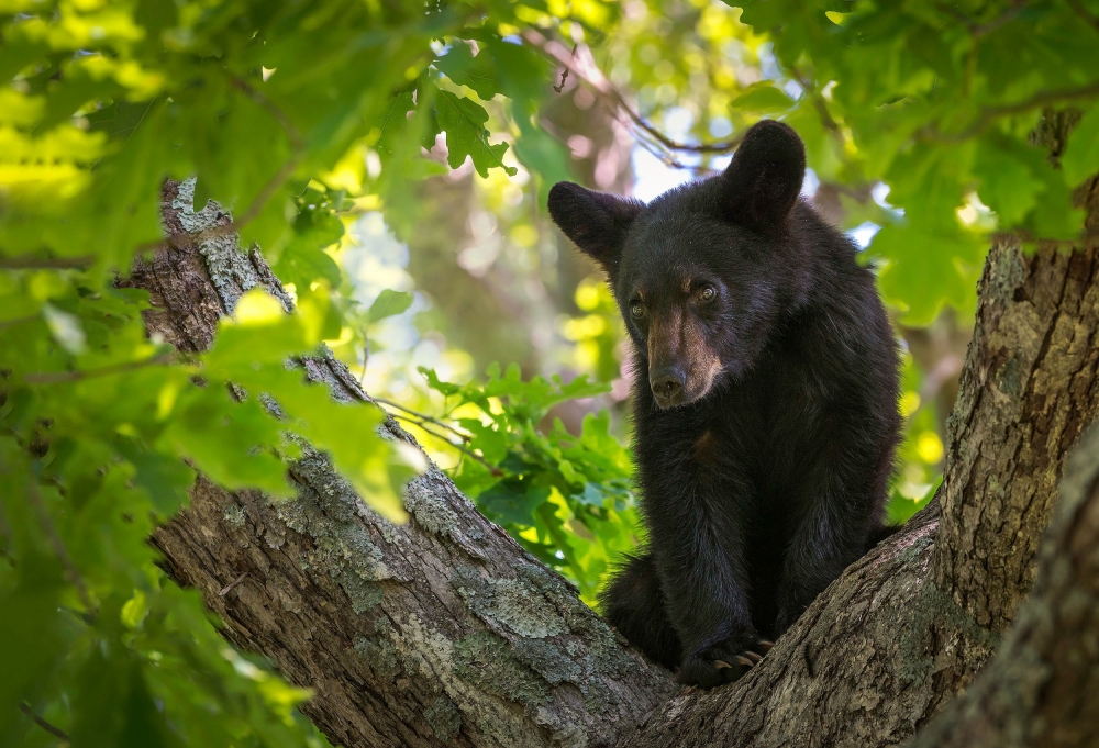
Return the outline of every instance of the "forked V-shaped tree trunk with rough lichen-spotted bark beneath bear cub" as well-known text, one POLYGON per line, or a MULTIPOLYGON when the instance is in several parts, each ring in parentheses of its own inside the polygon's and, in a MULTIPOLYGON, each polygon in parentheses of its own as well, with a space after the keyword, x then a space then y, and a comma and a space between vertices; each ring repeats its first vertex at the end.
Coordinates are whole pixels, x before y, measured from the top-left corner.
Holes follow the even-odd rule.
MULTIPOLYGON (((186 183, 168 187, 170 233, 186 239, 230 220, 212 205, 195 214, 190 201, 186 183)), ((140 263, 129 282, 152 292, 151 332, 180 349, 209 345, 219 315, 247 288, 289 304, 258 252, 237 252, 235 237, 178 244, 140 263)), ((1043 605, 1070 609, 1095 582, 1095 544, 1080 545, 1097 524, 1090 498, 1076 502, 1085 509, 1074 516, 1086 522, 1046 539, 1050 571, 1028 607, 1036 613, 1011 627, 1065 455, 1099 409, 1096 252, 1090 242, 1025 254, 997 239, 939 495, 848 568, 747 677, 714 691, 675 686, 434 468, 410 483, 412 518, 402 526, 369 511, 315 453, 291 466, 299 494, 289 502, 200 479, 190 509, 154 543, 173 576, 202 592, 226 638, 314 690, 303 711, 345 746, 899 745, 973 681, 1004 632, 1015 648, 1004 645, 992 668, 1053 679, 1032 693, 1072 682, 1058 680, 1063 671, 1083 683, 1079 663, 1096 658, 1094 634, 1081 633, 1087 618, 1068 610, 1052 629, 1039 625, 1048 624, 1043 605), (1076 573, 1057 572, 1065 563, 1076 573), (1051 630, 1075 636, 1076 649, 1055 648, 1051 630)), ((368 400, 331 356, 303 366, 334 397, 368 400)), ((976 734, 962 732, 969 727, 990 735, 980 719, 1030 714, 1032 732, 1040 718, 1047 732, 1079 719, 1048 711, 1055 702, 1025 702, 1024 689, 1004 695, 996 686, 1006 684, 985 682, 921 740, 954 745, 945 740, 976 734), (983 688, 987 699, 965 706, 983 688), (989 716, 993 703, 1000 716, 989 716)))

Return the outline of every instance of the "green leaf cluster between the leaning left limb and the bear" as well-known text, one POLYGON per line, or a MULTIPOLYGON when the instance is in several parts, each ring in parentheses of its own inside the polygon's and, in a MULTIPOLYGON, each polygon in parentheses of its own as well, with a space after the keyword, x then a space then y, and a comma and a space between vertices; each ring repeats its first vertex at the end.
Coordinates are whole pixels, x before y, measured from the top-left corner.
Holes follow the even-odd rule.
POLYGON ((554 408, 610 390, 585 376, 523 380, 519 367, 492 366, 481 382, 454 384, 422 370, 443 398, 440 417, 466 457, 454 482, 531 554, 562 571, 593 602, 614 557, 643 535, 630 451, 607 410, 588 413, 578 434, 554 408))

